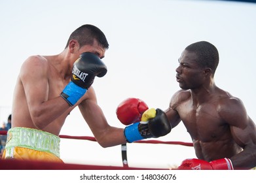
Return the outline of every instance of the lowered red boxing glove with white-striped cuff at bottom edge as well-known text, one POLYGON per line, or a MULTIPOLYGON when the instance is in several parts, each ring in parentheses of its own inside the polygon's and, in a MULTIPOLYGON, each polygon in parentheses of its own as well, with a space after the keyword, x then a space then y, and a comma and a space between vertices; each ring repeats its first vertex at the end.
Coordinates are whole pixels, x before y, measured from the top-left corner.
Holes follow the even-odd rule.
POLYGON ((229 158, 217 159, 214 161, 204 161, 201 159, 185 159, 178 170, 234 170, 229 158))

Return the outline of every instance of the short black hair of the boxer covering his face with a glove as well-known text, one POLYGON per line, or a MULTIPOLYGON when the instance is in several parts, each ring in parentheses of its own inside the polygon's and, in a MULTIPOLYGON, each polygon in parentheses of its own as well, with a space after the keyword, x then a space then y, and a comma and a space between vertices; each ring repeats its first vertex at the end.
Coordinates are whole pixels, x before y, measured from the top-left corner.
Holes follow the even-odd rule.
POLYGON ((88 44, 92 45, 94 43, 94 40, 96 40, 103 48, 109 48, 109 43, 107 42, 104 33, 98 27, 90 24, 85 24, 75 29, 75 31, 73 31, 73 33, 71 33, 71 35, 69 36, 65 48, 67 48, 67 46, 69 45, 69 41, 71 41, 72 39, 77 40, 80 47, 88 44))

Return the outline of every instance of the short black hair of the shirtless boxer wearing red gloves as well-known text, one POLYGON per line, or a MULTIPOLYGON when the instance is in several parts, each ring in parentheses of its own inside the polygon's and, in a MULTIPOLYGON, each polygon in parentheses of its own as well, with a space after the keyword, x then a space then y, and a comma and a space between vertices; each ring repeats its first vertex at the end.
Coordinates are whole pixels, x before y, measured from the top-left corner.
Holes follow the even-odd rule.
POLYGON ((217 66, 219 65, 219 52, 217 48, 207 41, 194 42, 187 46, 185 50, 194 52, 198 59, 196 61, 202 67, 209 67, 214 75, 217 66))

